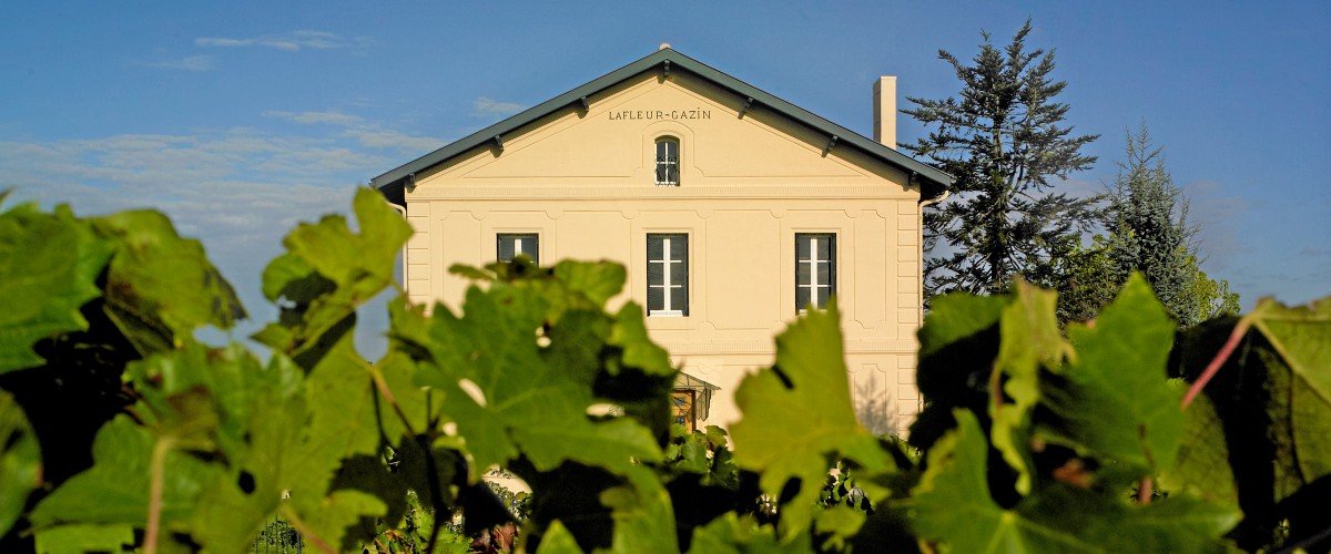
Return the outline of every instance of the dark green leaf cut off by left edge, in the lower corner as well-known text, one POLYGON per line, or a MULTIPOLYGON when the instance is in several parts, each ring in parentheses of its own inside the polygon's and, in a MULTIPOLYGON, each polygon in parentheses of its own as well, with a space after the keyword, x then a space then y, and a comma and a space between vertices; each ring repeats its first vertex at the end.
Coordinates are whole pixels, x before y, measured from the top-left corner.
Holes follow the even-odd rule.
POLYGON ((37 436, 13 397, 0 391, 0 537, 19 519, 40 474, 37 436))

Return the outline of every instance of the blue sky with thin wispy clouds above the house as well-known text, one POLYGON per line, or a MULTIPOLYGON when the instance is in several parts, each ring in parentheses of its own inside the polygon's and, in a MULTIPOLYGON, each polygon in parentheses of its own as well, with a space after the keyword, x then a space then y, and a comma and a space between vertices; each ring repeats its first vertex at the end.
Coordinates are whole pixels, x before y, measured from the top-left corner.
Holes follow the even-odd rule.
MULTIPOLYGON (((662 41, 870 134, 876 76, 952 96, 938 49, 969 58, 981 29, 1005 43, 1032 17, 1069 122, 1102 134, 1070 190, 1110 179, 1145 121, 1203 268, 1246 307, 1331 294, 1331 3, 936 4, 11 0, 0 187, 84 214, 158 207, 264 319, 260 271, 297 221, 662 41)), ((900 122, 902 141, 922 132, 900 122)))

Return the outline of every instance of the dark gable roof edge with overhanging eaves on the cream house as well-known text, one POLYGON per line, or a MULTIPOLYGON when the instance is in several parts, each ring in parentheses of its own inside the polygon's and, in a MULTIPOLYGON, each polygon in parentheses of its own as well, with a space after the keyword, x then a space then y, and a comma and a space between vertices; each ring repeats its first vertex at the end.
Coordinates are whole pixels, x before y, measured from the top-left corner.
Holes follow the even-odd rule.
POLYGON ((823 117, 813 114, 795 104, 787 102, 772 94, 763 92, 761 89, 740 81, 729 74, 721 73, 715 68, 703 64, 701 61, 693 60, 676 52, 672 48, 662 48, 650 56, 639 58, 623 68, 615 69, 614 72, 606 73, 582 86, 559 94, 551 100, 547 100, 534 108, 523 110, 507 120, 494 124, 488 128, 471 133, 458 141, 454 141, 435 151, 413 159, 402 166, 398 166, 379 177, 370 181, 370 186, 379 189, 386 197, 393 202, 402 201, 402 187, 405 181, 418 171, 434 167, 443 163, 454 157, 458 157, 476 146, 482 146, 490 141, 495 141, 496 137, 508 134, 523 125, 546 117, 551 113, 566 108, 583 108, 583 98, 596 94, 604 89, 615 86, 627 80, 635 78, 642 73, 651 70, 685 70, 697 77, 701 77, 721 89, 727 89, 740 96, 741 98, 752 98, 752 109, 767 109, 779 114, 783 114, 791 120, 795 120, 803 125, 807 125, 815 130, 819 130, 828 136, 828 138, 836 138, 836 145, 849 145, 864 153, 886 162, 888 165, 897 167, 912 177, 920 179, 921 193, 925 198, 934 198, 942 195, 944 191, 956 181, 952 175, 940 171, 932 166, 910 158, 894 149, 882 145, 872 138, 868 138, 860 133, 843 128, 833 124, 823 117), (660 69, 658 69, 660 68, 660 69))

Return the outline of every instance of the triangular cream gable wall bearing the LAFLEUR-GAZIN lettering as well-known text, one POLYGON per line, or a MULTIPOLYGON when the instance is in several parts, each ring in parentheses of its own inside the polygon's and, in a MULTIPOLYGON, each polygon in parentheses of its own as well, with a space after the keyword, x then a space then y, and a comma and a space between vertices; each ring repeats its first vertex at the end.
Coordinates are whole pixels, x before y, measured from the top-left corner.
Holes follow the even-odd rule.
POLYGON ((439 167, 418 186, 642 186, 655 169, 655 141, 681 145, 683 182, 881 186, 904 173, 691 74, 643 74, 562 110, 498 143, 439 167))

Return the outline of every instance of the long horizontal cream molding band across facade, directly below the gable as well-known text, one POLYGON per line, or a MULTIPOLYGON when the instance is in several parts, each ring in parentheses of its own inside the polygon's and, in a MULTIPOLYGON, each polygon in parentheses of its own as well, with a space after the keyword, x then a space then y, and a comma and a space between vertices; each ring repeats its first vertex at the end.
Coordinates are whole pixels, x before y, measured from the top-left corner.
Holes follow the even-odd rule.
POLYGON ((885 199, 909 201, 916 198, 902 195, 882 186, 486 186, 486 187, 434 187, 417 189, 407 202, 417 201, 457 201, 457 199, 620 199, 620 198, 741 198, 741 199, 885 199))

